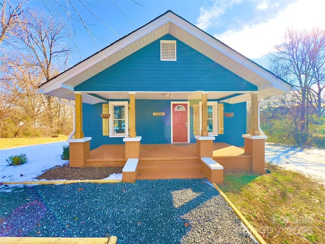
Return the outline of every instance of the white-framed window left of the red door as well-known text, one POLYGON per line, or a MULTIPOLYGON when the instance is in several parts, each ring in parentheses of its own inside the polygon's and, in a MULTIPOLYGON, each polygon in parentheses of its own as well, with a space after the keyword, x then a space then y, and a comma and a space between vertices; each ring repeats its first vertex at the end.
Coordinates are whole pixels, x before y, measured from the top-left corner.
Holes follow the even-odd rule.
POLYGON ((109 102, 110 137, 128 136, 128 104, 123 102, 109 102))

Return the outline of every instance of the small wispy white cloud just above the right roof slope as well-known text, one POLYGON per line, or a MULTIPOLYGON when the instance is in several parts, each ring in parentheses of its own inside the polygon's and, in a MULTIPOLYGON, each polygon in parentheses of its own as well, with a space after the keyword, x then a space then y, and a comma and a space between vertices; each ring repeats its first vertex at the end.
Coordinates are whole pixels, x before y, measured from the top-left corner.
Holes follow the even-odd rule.
POLYGON ((206 30, 208 27, 217 25, 219 16, 223 15, 228 8, 240 2, 241 0, 217 0, 212 7, 201 7, 197 26, 200 29, 206 30))

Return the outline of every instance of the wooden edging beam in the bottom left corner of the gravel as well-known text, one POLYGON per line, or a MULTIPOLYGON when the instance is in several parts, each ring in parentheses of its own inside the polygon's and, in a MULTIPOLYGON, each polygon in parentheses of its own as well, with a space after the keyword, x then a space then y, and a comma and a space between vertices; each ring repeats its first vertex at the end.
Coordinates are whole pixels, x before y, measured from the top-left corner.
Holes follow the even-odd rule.
POLYGON ((22 243, 22 244, 116 244, 117 237, 0 237, 1 244, 22 243))

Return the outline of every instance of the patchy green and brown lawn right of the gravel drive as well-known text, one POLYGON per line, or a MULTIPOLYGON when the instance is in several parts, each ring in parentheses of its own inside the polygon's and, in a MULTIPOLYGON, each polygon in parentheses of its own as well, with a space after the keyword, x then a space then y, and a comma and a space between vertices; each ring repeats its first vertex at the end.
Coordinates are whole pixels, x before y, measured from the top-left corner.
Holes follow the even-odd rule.
POLYGON ((225 172, 221 190, 268 243, 325 243, 325 188, 303 174, 267 165, 258 176, 225 172))

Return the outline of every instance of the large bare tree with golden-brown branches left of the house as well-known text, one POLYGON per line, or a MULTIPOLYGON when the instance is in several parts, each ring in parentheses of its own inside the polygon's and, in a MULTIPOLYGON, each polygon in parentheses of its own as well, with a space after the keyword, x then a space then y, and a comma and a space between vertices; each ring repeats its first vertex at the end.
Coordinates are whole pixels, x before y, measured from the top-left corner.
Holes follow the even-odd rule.
POLYGON ((14 136, 23 128, 40 124, 50 127, 50 133, 62 132, 64 126, 72 125, 71 116, 64 117, 70 114, 70 108, 56 103, 53 97, 40 94, 38 86, 63 70, 71 51, 66 47, 68 34, 62 24, 42 12, 26 13, 20 16, 25 24, 12 31, 10 46, 6 46, 0 57, 0 113, 7 114, 2 117, 2 124, 13 123, 14 136))

